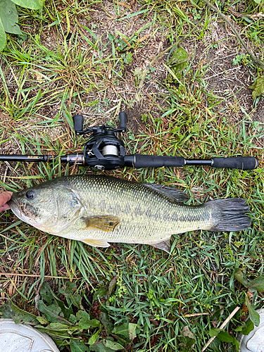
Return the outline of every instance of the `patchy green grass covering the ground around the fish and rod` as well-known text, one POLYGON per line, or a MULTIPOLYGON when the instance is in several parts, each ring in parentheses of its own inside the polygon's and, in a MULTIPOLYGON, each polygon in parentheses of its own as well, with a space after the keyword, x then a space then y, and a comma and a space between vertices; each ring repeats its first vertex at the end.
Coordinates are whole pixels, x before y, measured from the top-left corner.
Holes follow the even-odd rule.
MULTIPOLYGON (((222 20, 216 19, 202 1, 123 4, 46 1, 42 11, 20 8, 20 26, 27 39, 11 35, 0 54, 1 153, 80 153, 86 139, 75 136, 72 115, 83 113, 84 127, 102 123, 118 127, 118 113, 126 110, 129 119, 122 139, 128 154, 255 156, 259 168, 121 168, 105 174, 179 187, 191 195, 190 203, 246 198, 251 228, 173 236, 168 256, 137 244, 94 249, 43 234, 8 211, 1 213, 0 292, 19 308, 45 318, 43 312, 35 310, 34 300, 43 282, 48 282, 74 315, 81 310, 91 319, 99 319, 99 327, 80 329, 64 338, 58 329, 48 329, 47 323, 39 321, 63 352, 78 351, 73 346, 73 340, 78 339, 90 351, 101 346, 109 352, 102 345, 92 344, 97 333, 97 342, 114 340, 127 351, 201 351, 215 327, 220 327, 236 306, 240 310, 224 329, 230 337, 237 337, 235 329, 248 315, 248 289, 237 280, 236 272, 244 272, 249 282, 263 275, 264 134, 263 124, 252 119, 253 107, 263 104, 263 98, 253 102, 251 92, 245 89, 251 102, 246 110, 239 92, 214 94, 208 80, 213 75, 212 62, 199 61, 195 54, 211 54, 228 43, 231 34, 217 42, 218 48, 214 46, 216 42, 209 39, 212 24, 222 20), (134 24, 137 32, 131 30, 134 24), (73 32, 70 42, 65 40, 68 32, 73 32), (143 72, 154 57, 175 42, 188 46, 190 54, 180 79, 170 70, 166 54, 153 65, 140 100, 131 106, 139 84, 134 69, 143 72), (82 296, 82 306, 75 306, 59 291, 69 281, 77 285, 73 295, 82 296), (100 310, 94 308, 98 297, 100 310), (137 325, 133 341, 118 334, 127 324, 137 325)), ((238 11, 241 4, 242 12, 252 20, 258 6, 253 1, 232 1, 230 6, 238 11)), ((220 10, 230 14, 225 7, 220 6, 220 10)), ((255 16, 249 25, 246 18, 232 15, 232 19, 240 30, 246 28, 244 35, 261 57, 263 20, 255 16)), ((232 58, 237 54, 241 52, 234 51, 232 58)), ((251 62, 243 72, 249 80, 261 74, 251 62)), ((87 172, 94 171, 59 162, 1 163, 0 186, 18 191, 61 175, 87 172)), ((263 306, 263 292, 249 298, 255 308, 263 306)), ((236 349, 232 342, 216 337, 206 351, 236 349)))

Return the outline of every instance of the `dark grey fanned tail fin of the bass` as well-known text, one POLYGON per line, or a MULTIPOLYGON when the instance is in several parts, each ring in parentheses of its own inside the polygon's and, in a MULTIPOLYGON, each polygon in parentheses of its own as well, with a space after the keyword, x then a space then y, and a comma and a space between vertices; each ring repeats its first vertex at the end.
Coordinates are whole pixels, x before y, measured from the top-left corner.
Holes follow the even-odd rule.
POLYGON ((241 231, 251 225, 251 220, 246 213, 246 199, 230 198, 208 201, 206 205, 212 208, 212 216, 216 219, 210 231, 241 231))

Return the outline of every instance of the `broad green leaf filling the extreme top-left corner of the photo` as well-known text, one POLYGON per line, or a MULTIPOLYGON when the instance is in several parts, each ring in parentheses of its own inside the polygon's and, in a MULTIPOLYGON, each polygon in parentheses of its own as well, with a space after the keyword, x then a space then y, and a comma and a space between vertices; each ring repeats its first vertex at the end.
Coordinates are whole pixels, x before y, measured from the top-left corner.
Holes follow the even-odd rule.
POLYGON ((4 30, 8 33, 22 34, 18 27, 18 12, 11 0, 0 0, 0 19, 4 30))

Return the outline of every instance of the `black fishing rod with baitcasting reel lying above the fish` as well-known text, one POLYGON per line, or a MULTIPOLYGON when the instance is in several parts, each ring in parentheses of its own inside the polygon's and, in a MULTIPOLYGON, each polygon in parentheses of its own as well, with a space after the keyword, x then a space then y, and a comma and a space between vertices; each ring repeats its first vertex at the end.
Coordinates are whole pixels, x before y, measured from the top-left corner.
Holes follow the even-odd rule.
POLYGON ((258 168, 258 160, 251 156, 216 157, 205 159, 185 159, 182 156, 152 156, 143 154, 125 154, 124 144, 116 137, 118 132, 124 133, 127 126, 127 114, 119 113, 120 128, 106 125, 88 127, 83 130, 83 116, 73 116, 74 130, 77 135, 92 133, 84 145, 83 154, 65 156, 51 155, 0 155, 0 161, 52 162, 60 159, 61 163, 70 165, 92 166, 96 170, 114 170, 122 166, 131 168, 180 168, 185 165, 202 165, 212 168, 230 168, 254 170, 258 168))

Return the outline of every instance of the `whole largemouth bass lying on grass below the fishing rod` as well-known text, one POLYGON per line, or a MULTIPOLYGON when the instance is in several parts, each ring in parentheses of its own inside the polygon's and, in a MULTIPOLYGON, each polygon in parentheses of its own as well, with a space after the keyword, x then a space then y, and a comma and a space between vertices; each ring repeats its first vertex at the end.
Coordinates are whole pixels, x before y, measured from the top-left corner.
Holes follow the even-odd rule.
POLYGON ((9 206, 49 234, 108 247, 108 242, 150 244, 170 253, 172 234, 240 231, 250 226, 245 199, 184 205, 189 196, 160 184, 101 175, 58 177, 13 194, 9 206))

